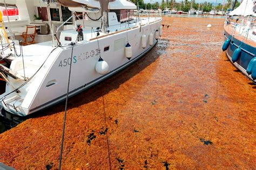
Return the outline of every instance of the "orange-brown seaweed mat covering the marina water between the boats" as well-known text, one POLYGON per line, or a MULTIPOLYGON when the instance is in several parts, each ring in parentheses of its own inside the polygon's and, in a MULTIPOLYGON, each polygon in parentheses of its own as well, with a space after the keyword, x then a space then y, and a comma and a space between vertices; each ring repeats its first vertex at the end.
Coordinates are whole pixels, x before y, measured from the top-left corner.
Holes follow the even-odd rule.
MULTIPOLYGON (((256 86, 222 52, 223 23, 166 17, 150 53, 72 97, 62 168, 255 169, 256 86)), ((56 169, 64 107, 0 134, 0 162, 56 169)))

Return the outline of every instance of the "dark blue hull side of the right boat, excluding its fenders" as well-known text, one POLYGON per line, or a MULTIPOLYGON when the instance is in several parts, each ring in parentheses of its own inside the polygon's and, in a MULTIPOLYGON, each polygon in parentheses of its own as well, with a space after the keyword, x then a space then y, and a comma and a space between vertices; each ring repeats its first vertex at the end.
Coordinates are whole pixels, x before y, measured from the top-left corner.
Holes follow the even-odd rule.
MULTIPOLYGON (((226 31, 224 31, 225 40, 230 37, 230 34, 228 34, 226 31)), ((246 72, 246 69, 248 67, 248 64, 250 61, 255 57, 256 54, 256 48, 252 47, 248 44, 242 43, 241 40, 238 40, 237 38, 233 37, 231 41, 230 46, 227 48, 226 54, 228 59, 232 62, 232 56, 235 51, 240 45, 241 45, 241 55, 237 62, 232 62, 237 69, 241 70, 241 72, 247 76, 251 81, 256 83, 255 80, 252 79, 251 75, 248 75, 246 72)))

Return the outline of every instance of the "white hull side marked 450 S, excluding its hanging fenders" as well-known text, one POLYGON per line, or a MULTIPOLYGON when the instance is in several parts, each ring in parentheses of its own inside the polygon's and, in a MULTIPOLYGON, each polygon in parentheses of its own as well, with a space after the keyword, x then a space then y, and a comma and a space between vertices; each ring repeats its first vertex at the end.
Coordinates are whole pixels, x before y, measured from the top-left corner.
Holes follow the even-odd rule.
POLYGON ((137 26, 126 31, 112 33, 110 36, 99 36, 98 39, 79 42, 73 47, 72 45, 58 47, 49 56, 37 76, 31 80, 31 84, 20 89, 21 94, 14 93, 9 98, 3 98, 1 102, 3 109, 18 116, 27 116, 64 101, 70 65, 69 97, 92 87, 149 52, 158 41, 154 38, 153 44, 149 45, 149 34, 153 33, 154 37, 157 37, 156 32, 160 25, 161 19, 158 19, 156 22, 141 27, 137 26), (142 48, 143 34, 146 35, 148 41, 145 48, 142 48), (127 42, 132 47, 130 60, 125 56, 127 42), (100 57, 109 65, 109 72, 104 75, 96 72, 96 63, 100 57), (24 91, 27 92, 25 96, 22 96, 24 91))

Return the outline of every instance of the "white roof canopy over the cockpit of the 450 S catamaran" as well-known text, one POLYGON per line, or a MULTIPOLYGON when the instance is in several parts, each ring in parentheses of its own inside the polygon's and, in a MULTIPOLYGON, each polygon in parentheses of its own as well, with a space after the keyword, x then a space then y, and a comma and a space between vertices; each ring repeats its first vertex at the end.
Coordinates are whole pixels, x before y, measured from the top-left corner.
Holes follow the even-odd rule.
POLYGON ((119 10, 119 9, 126 9, 126 10, 135 10, 137 6, 132 2, 126 0, 116 0, 109 3, 110 10, 119 10))

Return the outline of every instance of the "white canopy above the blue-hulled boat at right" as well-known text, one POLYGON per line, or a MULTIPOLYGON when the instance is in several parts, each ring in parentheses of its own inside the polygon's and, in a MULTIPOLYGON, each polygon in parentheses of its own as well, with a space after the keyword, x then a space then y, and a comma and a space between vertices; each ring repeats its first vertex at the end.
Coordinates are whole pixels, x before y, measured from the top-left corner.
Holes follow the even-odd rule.
POLYGON ((238 8, 234 9, 229 13, 230 16, 251 16, 254 15, 254 1, 253 0, 244 0, 238 6, 238 8))

